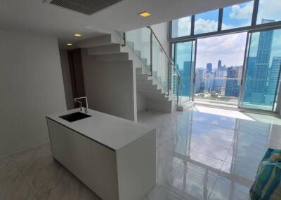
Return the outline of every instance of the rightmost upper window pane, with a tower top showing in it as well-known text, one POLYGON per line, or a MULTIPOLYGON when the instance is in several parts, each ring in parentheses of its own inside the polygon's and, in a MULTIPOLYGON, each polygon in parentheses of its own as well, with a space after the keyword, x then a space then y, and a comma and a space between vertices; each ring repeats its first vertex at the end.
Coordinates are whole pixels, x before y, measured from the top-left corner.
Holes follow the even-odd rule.
POLYGON ((280 0, 259 0, 256 24, 264 24, 281 20, 280 0))

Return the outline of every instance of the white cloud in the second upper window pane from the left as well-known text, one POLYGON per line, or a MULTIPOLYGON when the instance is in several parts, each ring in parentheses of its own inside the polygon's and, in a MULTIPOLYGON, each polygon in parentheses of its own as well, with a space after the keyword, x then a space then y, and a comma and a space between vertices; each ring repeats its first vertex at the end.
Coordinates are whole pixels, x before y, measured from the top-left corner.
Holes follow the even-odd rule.
POLYGON ((204 20, 202 18, 195 21, 195 34, 213 32, 218 29, 218 22, 214 20, 204 20))

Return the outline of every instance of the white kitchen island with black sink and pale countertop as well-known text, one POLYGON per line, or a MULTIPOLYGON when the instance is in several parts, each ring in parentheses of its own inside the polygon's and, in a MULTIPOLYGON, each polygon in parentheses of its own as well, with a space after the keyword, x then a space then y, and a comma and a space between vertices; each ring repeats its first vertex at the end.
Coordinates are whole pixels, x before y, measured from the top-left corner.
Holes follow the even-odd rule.
POLYGON ((104 200, 138 200, 156 183, 156 131, 89 109, 69 122, 69 110, 46 117, 53 158, 104 200), (67 119, 67 118, 66 118, 67 119))

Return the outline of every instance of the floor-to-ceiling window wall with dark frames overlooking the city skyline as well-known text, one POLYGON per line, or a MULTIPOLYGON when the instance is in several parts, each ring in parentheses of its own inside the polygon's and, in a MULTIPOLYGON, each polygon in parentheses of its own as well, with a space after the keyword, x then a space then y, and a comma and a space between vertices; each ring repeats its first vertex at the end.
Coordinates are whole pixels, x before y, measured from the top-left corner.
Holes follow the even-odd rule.
POLYGON ((251 0, 173 20, 170 41, 183 94, 204 103, 280 108, 280 9, 280 0, 251 0), (184 50, 190 41, 194 50, 184 50), (190 52, 194 59, 186 59, 190 52))

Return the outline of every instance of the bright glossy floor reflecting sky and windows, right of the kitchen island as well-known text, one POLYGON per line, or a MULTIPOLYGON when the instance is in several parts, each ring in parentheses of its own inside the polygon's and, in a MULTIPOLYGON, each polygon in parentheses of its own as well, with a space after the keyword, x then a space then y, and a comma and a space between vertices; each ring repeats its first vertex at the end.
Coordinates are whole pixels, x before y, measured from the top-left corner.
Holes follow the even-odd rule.
POLYGON ((138 122, 157 127, 162 159, 146 199, 248 199, 267 148, 281 148, 281 120, 273 116, 196 106, 142 111, 138 122))

